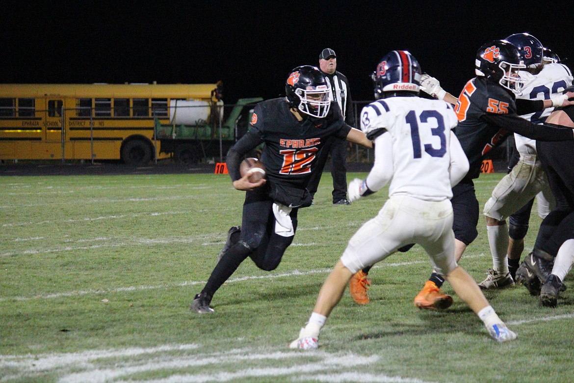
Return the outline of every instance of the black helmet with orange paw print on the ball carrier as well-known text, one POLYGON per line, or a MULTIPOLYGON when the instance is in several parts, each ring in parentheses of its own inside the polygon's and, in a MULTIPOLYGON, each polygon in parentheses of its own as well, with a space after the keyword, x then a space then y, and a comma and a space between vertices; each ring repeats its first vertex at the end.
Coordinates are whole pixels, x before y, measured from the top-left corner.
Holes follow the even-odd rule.
POLYGON ((293 69, 285 82, 289 106, 312 117, 326 117, 331 107, 331 87, 323 72, 311 65, 293 69))

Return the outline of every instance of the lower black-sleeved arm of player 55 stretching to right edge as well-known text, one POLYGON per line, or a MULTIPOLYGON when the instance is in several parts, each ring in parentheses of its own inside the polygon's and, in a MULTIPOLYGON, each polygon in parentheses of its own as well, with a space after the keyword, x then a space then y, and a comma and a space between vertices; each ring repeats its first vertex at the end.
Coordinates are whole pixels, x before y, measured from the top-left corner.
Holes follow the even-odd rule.
MULTIPOLYGON (((480 120, 491 125, 501 127, 518 133, 521 136, 539 141, 571 141, 574 140, 572 128, 552 127, 548 125, 536 125, 519 117, 517 114, 493 114, 487 113, 480 116, 480 120), (567 129, 564 129, 567 128, 567 129)), ((561 125, 559 125, 561 126, 561 125)))

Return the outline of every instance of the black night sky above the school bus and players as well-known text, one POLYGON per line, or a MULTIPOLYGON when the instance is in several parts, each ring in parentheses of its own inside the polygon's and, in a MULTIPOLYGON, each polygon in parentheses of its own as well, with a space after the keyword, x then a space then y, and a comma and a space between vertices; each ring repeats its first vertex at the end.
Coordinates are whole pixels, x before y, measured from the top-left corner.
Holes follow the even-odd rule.
MULTIPOLYGON (((572 6, 503 1, 6 1, 0 83, 215 83, 226 103, 283 95, 290 69, 332 48, 352 98, 393 49, 458 94, 484 42, 529 32, 563 59, 572 6)), ((532 3, 532 2, 525 2, 532 3)), ((561 2, 566 4, 568 2, 561 2)), ((567 64, 569 64, 567 62, 567 64)), ((571 65, 572 66, 572 65, 571 65)))

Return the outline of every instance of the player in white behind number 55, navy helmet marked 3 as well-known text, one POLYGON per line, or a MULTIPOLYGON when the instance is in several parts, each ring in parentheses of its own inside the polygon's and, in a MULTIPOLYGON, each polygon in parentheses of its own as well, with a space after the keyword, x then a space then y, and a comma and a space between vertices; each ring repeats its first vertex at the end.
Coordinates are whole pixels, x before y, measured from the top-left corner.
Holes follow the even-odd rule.
MULTIPOLYGON (((527 71, 518 72, 525 80, 525 85, 517 95, 517 103, 519 99, 552 99, 572 84, 572 73, 564 64, 543 63, 544 48, 536 37, 528 33, 515 33, 505 40, 518 48, 528 67, 527 71)), ((521 117, 533 123, 543 123, 552 110, 547 108, 521 117)), ((486 279, 479 283, 483 289, 505 288, 514 284, 514 272, 518 268, 524 247, 523 239, 528 231, 529 209, 521 214, 524 222, 519 222, 513 216, 509 227, 506 218, 530 203, 534 196, 537 197, 537 211, 541 218, 548 215, 555 204, 546 174, 537 158, 536 141, 519 134, 514 134, 514 140, 520 154, 518 163, 498 183, 484 205, 492 269, 488 269, 486 279)))

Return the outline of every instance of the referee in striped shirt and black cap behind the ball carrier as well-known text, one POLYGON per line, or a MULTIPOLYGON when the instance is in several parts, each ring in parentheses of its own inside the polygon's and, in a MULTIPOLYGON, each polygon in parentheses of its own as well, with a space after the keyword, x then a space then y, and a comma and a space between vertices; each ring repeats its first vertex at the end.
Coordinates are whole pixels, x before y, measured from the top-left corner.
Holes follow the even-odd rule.
MULTIPOLYGON (((355 127, 355 118, 352 113, 351 105, 351 92, 349 82, 343 73, 338 72, 337 69, 337 55, 333 49, 325 48, 319 55, 319 68, 329 85, 331 85, 331 100, 338 103, 343 118, 348 125, 355 127)), ((307 189, 312 196, 315 196, 321 174, 327 157, 331 154, 331 176, 333 177, 333 204, 350 205, 347 199, 347 168, 345 162, 347 160, 347 142, 332 137, 325 143, 323 149, 319 152, 315 169, 311 173, 311 179, 307 189)))

